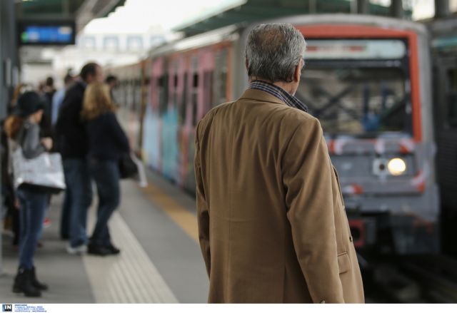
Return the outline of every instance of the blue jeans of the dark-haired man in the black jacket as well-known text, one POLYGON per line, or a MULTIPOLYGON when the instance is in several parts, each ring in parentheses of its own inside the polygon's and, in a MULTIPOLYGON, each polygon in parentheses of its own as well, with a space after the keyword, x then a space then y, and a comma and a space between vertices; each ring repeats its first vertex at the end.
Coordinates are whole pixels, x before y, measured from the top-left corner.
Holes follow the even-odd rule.
POLYGON ((92 202, 91 175, 87 160, 69 158, 64 160, 66 201, 70 209, 70 245, 78 247, 87 244, 87 210, 92 202), (68 202, 67 202, 68 201, 68 202))

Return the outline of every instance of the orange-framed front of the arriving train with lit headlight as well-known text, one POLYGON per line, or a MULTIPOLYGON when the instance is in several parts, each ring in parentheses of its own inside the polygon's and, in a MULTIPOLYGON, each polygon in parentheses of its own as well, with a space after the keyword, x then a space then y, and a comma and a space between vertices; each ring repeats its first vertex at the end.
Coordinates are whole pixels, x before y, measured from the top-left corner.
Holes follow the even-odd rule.
POLYGON ((296 96, 318 118, 358 248, 438 251, 425 27, 373 16, 291 19, 307 41, 296 96))

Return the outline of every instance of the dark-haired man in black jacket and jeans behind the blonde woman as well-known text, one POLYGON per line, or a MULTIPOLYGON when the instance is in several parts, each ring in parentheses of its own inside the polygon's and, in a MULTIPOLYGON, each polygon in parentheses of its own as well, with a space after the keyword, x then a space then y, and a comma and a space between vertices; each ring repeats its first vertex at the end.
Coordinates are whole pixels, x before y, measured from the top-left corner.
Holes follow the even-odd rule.
POLYGON ((69 237, 67 252, 78 254, 86 252, 87 210, 92 202, 92 187, 87 162, 89 138, 84 122, 81 120, 84 91, 89 83, 102 82, 101 67, 87 63, 82 69, 79 81, 66 91, 56 121, 56 140, 62 155, 66 181, 66 194, 61 218, 61 237, 69 237))

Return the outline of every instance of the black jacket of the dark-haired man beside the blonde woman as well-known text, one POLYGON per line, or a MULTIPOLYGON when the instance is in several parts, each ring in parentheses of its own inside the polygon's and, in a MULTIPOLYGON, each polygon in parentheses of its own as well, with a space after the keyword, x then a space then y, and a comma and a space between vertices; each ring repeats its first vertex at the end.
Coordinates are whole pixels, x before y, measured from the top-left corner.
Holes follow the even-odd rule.
POLYGON ((86 85, 76 82, 66 91, 56 122, 56 140, 62 158, 85 158, 89 140, 81 120, 86 85))

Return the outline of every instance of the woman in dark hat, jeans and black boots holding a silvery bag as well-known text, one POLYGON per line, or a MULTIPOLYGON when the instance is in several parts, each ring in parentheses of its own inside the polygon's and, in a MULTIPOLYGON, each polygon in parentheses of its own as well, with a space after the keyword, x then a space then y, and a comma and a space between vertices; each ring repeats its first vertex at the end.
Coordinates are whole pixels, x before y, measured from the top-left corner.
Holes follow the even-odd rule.
MULTIPOLYGON (((5 122, 9 149, 21 148, 24 158, 33 159, 52 148, 51 138, 40 138, 44 102, 38 93, 28 91, 19 96, 14 113, 5 122)), ((26 297, 40 297, 46 284, 36 279, 34 254, 44 221, 48 193, 36 185, 19 185, 19 269, 14 278, 13 292, 23 292, 26 297)))

